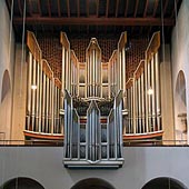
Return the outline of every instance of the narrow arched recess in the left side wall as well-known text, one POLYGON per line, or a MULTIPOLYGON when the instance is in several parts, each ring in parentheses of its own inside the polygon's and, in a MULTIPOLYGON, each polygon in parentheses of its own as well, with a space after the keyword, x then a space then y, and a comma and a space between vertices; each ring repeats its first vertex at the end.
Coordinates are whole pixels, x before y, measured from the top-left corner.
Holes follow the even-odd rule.
POLYGON ((10 91, 10 77, 9 71, 6 70, 2 78, 2 90, 1 90, 1 102, 4 100, 6 96, 10 91))

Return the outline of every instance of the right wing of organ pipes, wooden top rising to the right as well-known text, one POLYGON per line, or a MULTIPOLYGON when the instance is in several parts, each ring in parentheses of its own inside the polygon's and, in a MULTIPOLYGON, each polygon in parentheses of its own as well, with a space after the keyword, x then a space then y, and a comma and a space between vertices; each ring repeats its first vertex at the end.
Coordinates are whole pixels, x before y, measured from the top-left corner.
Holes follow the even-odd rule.
POLYGON ((128 110, 125 119, 125 135, 161 132, 159 54, 160 33, 156 32, 146 50, 133 78, 126 83, 128 110))

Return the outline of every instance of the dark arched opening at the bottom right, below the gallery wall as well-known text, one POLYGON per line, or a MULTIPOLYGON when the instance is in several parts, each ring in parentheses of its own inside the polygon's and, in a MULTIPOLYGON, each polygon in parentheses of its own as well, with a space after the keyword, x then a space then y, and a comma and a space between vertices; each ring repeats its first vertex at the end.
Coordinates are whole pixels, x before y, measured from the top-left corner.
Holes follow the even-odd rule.
POLYGON ((142 189, 188 189, 180 181, 169 178, 169 177, 159 177, 147 182, 142 189))

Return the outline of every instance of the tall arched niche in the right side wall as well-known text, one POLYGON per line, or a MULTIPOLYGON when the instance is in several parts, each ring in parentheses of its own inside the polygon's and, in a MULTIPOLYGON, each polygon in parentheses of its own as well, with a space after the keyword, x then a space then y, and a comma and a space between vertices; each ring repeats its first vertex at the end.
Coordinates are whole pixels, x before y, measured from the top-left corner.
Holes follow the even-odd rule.
POLYGON ((179 71, 176 83, 175 98, 175 119, 176 119, 176 139, 187 140, 187 97, 186 79, 182 70, 179 71))

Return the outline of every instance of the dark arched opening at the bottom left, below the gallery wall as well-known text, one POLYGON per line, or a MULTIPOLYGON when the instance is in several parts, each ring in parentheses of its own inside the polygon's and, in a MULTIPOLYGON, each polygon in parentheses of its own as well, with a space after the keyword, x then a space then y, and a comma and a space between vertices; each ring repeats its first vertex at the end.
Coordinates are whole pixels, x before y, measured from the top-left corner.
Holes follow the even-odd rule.
POLYGON ((11 179, 3 183, 0 189, 44 189, 41 183, 38 181, 26 178, 26 177, 18 177, 14 179, 11 179))

